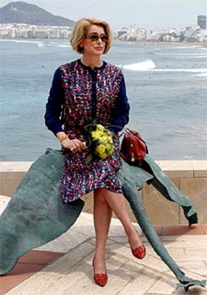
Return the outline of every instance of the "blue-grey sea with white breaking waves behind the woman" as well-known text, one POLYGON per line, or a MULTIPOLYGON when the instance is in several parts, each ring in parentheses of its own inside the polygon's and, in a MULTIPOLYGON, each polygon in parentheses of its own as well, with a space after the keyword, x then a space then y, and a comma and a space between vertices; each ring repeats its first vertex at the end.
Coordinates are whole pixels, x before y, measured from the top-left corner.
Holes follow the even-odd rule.
MULTIPOLYGON (((45 104, 55 69, 80 57, 67 40, 0 39, 1 161, 35 161, 47 147, 60 149, 44 124, 45 104)), ((113 43, 101 59, 122 69, 127 127, 154 160, 207 159, 207 48, 113 43)))

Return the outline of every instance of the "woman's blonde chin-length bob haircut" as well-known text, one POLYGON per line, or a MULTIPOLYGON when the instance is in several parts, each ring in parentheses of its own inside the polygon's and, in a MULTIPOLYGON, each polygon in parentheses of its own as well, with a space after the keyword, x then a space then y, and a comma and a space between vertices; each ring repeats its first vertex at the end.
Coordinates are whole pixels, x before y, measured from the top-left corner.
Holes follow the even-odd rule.
POLYGON ((106 22, 96 20, 93 18, 88 18, 88 19, 82 18, 76 22, 71 34, 71 38, 70 38, 70 44, 72 46, 72 49, 76 51, 77 53, 80 53, 80 54, 83 53, 83 48, 81 48, 79 45, 84 40, 87 34, 87 31, 91 25, 103 27, 105 34, 108 36, 108 41, 105 44, 105 49, 103 52, 103 54, 106 54, 110 49, 111 40, 112 40, 110 27, 106 22))

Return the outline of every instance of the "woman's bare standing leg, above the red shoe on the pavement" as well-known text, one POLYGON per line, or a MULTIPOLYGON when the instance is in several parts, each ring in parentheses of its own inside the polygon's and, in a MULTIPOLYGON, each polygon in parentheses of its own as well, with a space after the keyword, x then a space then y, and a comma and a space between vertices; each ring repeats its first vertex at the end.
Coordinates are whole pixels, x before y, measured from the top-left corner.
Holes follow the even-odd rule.
POLYGON ((112 210, 103 196, 101 188, 94 190, 93 222, 95 228, 95 273, 104 273, 105 244, 107 240, 112 210))

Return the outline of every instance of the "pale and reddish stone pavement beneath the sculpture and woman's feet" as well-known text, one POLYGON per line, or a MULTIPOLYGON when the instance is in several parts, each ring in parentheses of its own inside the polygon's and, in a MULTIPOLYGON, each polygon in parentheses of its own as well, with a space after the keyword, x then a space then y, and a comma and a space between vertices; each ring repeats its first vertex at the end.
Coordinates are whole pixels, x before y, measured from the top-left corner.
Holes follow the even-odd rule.
MULTIPOLYGON (((9 199, 0 196, 0 213, 9 199)), ((132 256, 120 221, 112 218, 105 256, 108 282, 104 287, 93 282, 92 215, 81 212, 68 231, 21 256, 12 270, 0 276, 0 295, 207 295, 207 287, 192 286, 188 292, 178 287, 174 274, 155 253, 138 224, 134 225, 146 246, 146 256, 142 260, 132 256)), ((154 228, 187 276, 207 278, 207 224, 154 228)))

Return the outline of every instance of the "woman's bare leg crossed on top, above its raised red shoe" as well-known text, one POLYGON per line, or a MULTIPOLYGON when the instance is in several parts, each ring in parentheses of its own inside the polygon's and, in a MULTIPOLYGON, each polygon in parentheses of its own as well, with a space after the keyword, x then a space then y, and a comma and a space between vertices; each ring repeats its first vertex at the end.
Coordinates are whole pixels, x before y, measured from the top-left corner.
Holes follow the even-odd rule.
POLYGON ((101 188, 100 190, 107 204, 121 221, 125 233, 128 236, 128 242, 131 248, 134 249, 136 247, 139 247, 142 244, 142 241, 139 237, 138 232, 130 221, 126 210, 124 196, 122 194, 111 192, 105 188, 101 188))

